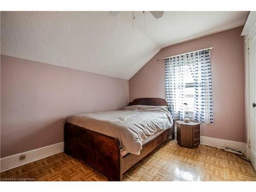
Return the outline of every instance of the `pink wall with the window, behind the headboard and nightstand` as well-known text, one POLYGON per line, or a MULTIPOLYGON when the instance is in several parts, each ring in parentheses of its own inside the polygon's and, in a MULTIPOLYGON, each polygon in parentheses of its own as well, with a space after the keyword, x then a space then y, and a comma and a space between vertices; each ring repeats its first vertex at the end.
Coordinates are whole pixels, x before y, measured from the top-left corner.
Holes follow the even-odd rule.
POLYGON ((164 57, 213 47, 212 99, 214 123, 202 124, 201 135, 245 142, 244 53, 242 27, 208 35, 160 50, 129 81, 130 101, 165 98, 164 57))

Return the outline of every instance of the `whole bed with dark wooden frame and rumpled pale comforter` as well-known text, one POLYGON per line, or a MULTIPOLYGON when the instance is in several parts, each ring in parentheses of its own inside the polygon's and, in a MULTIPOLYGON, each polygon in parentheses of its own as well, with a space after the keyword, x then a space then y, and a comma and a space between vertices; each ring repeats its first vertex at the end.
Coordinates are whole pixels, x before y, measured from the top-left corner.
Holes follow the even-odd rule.
POLYGON ((121 181, 123 173, 170 135, 174 139, 173 120, 166 109, 165 99, 138 98, 122 110, 70 116, 64 129, 65 153, 109 180, 121 181), (130 127, 135 128, 127 131, 130 127))

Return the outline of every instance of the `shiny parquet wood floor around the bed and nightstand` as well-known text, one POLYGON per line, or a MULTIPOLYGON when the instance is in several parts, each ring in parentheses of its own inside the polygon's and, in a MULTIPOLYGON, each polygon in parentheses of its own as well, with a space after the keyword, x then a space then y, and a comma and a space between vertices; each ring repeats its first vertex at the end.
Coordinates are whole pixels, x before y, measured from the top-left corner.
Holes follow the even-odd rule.
MULTIPOLYGON (((59 153, 1 173, 6 178, 35 181, 107 181, 90 166, 59 153)), ((130 168, 123 181, 256 181, 252 165, 215 147, 180 147, 176 140, 163 142, 130 168)))

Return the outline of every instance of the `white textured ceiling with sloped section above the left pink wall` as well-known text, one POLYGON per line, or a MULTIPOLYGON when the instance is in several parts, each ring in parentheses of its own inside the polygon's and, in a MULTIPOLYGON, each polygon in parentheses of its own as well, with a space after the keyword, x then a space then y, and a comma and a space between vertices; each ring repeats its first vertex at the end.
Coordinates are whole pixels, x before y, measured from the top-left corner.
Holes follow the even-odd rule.
POLYGON ((247 12, 1 12, 1 54, 130 79, 162 47, 242 26, 247 12), (145 19, 145 26, 144 26, 145 19))

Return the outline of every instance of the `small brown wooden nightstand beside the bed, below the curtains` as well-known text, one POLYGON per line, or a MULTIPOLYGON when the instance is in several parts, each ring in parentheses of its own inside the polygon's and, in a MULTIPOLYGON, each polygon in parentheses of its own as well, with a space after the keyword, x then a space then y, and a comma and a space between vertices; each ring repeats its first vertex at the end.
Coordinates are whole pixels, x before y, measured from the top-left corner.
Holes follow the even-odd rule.
POLYGON ((200 144, 200 124, 190 121, 176 121, 178 144, 186 148, 196 148, 200 144))

